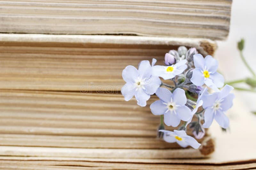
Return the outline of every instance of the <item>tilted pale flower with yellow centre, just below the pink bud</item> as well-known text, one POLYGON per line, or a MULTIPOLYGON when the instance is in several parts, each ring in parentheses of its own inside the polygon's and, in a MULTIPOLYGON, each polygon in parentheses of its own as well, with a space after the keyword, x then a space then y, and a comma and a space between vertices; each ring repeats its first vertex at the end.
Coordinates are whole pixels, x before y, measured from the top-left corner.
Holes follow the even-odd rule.
POLYGON ((180 62, 171 66, 153 66, 152 75, 162 77, 164 80, 172 79, 187 69, 188 66, 186 63, 187 60, 181 60, 180 62))

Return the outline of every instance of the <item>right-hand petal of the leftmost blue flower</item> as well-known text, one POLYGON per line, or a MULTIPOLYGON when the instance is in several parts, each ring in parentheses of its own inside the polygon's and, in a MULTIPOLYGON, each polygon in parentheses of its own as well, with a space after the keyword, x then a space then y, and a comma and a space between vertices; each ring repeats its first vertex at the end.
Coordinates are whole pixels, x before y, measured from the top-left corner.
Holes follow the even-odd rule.
POLYGON ((150 95, 156 93, 156 90, 160 87, 160 84, 161 80, 159 77, 156 76, 150 76, 144 79, 145 91, 150 95))

